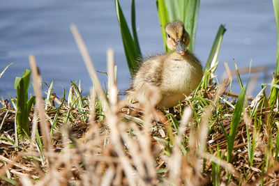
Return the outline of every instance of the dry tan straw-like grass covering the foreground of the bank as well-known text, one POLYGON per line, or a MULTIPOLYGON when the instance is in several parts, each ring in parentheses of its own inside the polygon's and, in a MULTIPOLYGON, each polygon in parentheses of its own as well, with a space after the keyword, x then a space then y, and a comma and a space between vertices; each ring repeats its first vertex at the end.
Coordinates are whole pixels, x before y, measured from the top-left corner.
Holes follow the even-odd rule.
MULTIPOLYGON (((209 88, 205 94, 216 94, 216 88, 209 88)), ((257 135, 254 165, 251 167, 247 160, 246 123, 241 121, 234 158, 232 163, 228 163, 224 160, 227 145, 223 132, 218 125, 213 126, 216 129, 208 131, 212 114, 209 107, 204 109, 200 122, 193 118, 193 108, 187 106, 187 102, 176 107, 174 117, 181 118, 181 123, 179 130, 175 130, 172 122, 152 121, 149 111, 137 111, 133 107, 123 108, 120 113, 128 115, 133 110, 132 117, 142 119, 143 123, 139 125, 123 118, 119 110, 115 109, 115 96, 110 98, 112 111, 106 114, 103 121, 98 120, 98 117, 90 120, 88 114, 84 122, 79 112, 73 109, 75 123, 63 124, 59 121, 61 125, 52 136, 50 150, 40 152, 36 141, 29 140, 21 141, 19 150, 15 150, 12 143, 2 138, 1 176, 22 185, 211 185, 214 162, 220 165, 220 183, 227 183, 229 174, 231 185, 253 185, 260 183, 262 178, 265 185, 269 185, 278 180, 279 164, 267 152, 268 139, 264 128, 257 135), (179 112, 181 106, 185 108, 182 117, 179 112), (221 156, 217 155, 218 151, 221 156), (269 169, 262 174, 266 158, 271 162, 269 169), (247 174, 246 178, 244 173, 247 174)), ((213 100, 214 97, 208 99, 213 100)), ((229 106, 224 104, 223 107, 229 106)), ((68 109, 67 105, 61 109, 68 109)), ((89 111, 88 106, 84 109, 89 111)), ((95 112, 89 112, 93 118, 95 112)), ((4 109, 1 109, 1 118, 5 114, 4 109)), ((45 110, 45 114, 47 118, 54 118, 55 112, 45 110)), ((232 113, 227 111, 226 114, 232 113)), ((262 116, 264 114, 269 114, 269 110, 259 113, 262 116)), ((1 130, 1 137, 12 141, 15 139, 14 117, 10 111, 1 130)), ((34 113, 30 118, 33 124, 36 123, 37 116, 34 113)), ((231 117, 219 119, 229 131, 231 117)), ((250 122, 250 127, 253 127, 254 122, 250 122)), ((276 134, 271 138, 276 139, 276 134)), ((1 183, 7 182, 1 180, 1 183)))

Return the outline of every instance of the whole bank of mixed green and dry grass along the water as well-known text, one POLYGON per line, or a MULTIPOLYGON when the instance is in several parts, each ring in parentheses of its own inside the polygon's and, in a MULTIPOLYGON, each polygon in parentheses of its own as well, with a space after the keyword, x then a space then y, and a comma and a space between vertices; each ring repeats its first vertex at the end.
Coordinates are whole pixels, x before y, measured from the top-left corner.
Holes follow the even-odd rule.
MULTIPOLYGON (((273 6, 279 28, 279 0, 273 0, 273 6)), ((135 1, 131 9, 135 24, 135 1)), ((166 10, 160 4, 158 9, 166 10)), ((120 6, 118 10, 121 15, 120 6)), ((119 17, 123 23, 123 15, 119 17)), ((195 38, 195 23, 193 28, 195 38)), ((119 101, 112 49, 107 51, 107 89, 103 91, 82 36, 74 24, 70 30, 92 80, 91 95, 82 95, 81 84, 75 82, 62 98, 52 92, 53 82, 42 95, 43 80, 35 56, 30 55, 31 71, 25 70, 15 80, 17 98, 0 100, 1 185, 279 183, 279 38, 276 75, 251 98, 237 65, 232 70, 225 63, 223 79, 214 74, 223 37, 217 34, 202 82, 174 111, 160 111, 166 118, 163 122, 153 120, 153 102, 138 107, 119 101), (234 75, 241 87, 239 95, 231 91, 234 75), (31 97, 30 78, 35 93, 31 97), (269 95, 267 87, 271 87, 269 95)), ((140 52, 140 47, 136 50, 140 52)), ((134 68, 129 65, 131 74, 134 68)), ((150 95, 151 100, 155 95, 150 95)))

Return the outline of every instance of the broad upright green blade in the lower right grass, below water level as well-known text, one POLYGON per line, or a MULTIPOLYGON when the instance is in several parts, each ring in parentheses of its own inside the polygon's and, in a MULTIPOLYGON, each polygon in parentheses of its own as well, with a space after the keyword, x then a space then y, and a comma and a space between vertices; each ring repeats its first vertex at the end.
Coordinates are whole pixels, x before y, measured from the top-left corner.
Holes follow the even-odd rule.
POLYGON ((239 98, 236 102, 234 113, 232 114, 232 124, 229 130, 229 141, 227 141, 227 162, 231 161, 232 150, 234 150, 234 139, 236 137, 236 131, 237 128, 239 127, 239 122, 243 111, 245 93, 246 93, 246 86, 243 86, 243 88, 241 88, 241 93, 239 94, 239 98))

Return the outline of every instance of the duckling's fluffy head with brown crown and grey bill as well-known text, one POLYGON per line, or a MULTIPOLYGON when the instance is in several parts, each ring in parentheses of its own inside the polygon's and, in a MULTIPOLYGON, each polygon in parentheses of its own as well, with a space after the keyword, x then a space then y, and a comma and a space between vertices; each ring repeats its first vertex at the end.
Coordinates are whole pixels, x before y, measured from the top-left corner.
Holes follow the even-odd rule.
POLYGON ((165 26, 167 33, 167 47, 178 54, 184 55, 190 42, 189 34, 186 32, 181 21, 170 22, 165 26))

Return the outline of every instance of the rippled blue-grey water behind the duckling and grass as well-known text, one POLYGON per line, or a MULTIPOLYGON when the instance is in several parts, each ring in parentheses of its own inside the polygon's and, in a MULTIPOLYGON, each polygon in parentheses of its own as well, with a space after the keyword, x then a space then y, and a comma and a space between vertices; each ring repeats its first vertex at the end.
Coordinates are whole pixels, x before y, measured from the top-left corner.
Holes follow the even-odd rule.
MULTIPOLYGON (((156 1, 137 0, 136 16, 142 54, 163 52, 163 40, 156 11, 156 1)), ((130 24, 130 1, 120 0, 130 24)), ((0 98, 15 96, 16 76, 29 68, 29 54, 36 56, 43 82, 54 80, 54 92, 61 96, 70 81, 81 80, 84 94, 89 94, 91 79, 79 50, 70 33, 75 23, 89 49, 96 69, 106 71, 106 51, 114 49, 118 66, 118 85, 128 88, 131 79, 123 52, 121 34, 112 0, 1 0, 0 4, 0 72, 15 62, 0 78, 0 98)), ((235 59, 239 68, 264 65, 266 72, 257 74, 257 85, 252 95, 259 92, 260 84, 271 81, 276 65, 276 23, 272 1, 266 0, 211 0, 201 1, 197 25, 195 54, 205 65, 220 24, 227 29, 223 38, 217 69, 219 79, 225 72, 224 62, 234 70, 235 59), (269 77, 269 79, 266 79, 269 77)), ((99 74, 104 85, 106 75, 99 74)), ((242 75, 246 83, 248 75, 242 75)), ((255 77, 255 75, 254 75, 255 77)), ((234 80, 234 91, 239 85, 234 80)), ((47 86, 43 86, 47 91, 47 86)), ((31 92, 32 92, 31 88, 31 92)))

